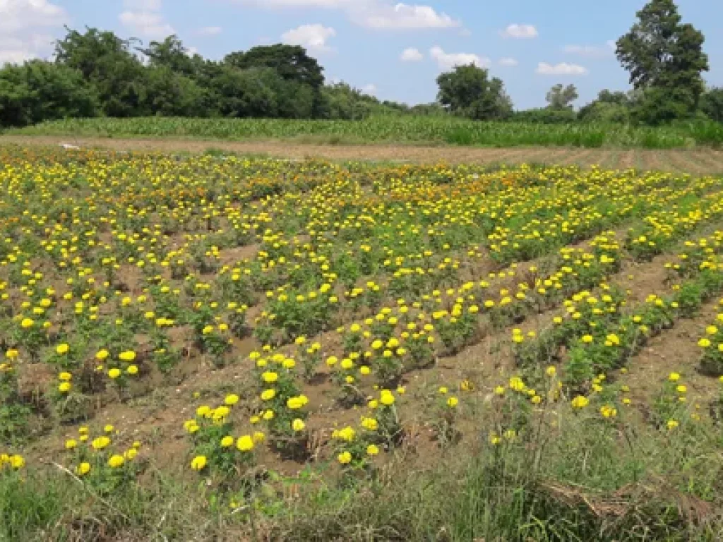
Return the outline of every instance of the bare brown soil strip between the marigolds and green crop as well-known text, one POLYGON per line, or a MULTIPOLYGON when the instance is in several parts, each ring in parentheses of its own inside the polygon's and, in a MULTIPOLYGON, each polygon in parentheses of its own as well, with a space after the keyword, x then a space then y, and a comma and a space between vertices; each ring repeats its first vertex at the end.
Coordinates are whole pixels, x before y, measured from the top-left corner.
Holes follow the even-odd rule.
POLYGON ((304 159, 325 158, 328 160, 380 160, 416 163, 522 163, 558 162, 561 164, 604 163, 612 168, 626 168, 630 165, 649 165, 675 171, 680 162, 695 164, 696 171, 690 173, 722 173, 723 151, 698 150, 646 150, 634 149, 573 149, 572 147, 515 147, 497 149, 489 147, 415 147, 411 145, 309 145, 286 141, 231 142, 192 139, 111 139, 93 137, 61 136, 0 136, 0 145, 45 145, 58 146, 67 143, 80 147, 111 150, 140 151, 187 151, 205 152, 225 150, 273 157, 304 159), (668 154, 675 155, 667 160, 668 154), (672 163, 671 163, 672 162, 672 163), (677 167, 675 162, 678 163, 677 167))

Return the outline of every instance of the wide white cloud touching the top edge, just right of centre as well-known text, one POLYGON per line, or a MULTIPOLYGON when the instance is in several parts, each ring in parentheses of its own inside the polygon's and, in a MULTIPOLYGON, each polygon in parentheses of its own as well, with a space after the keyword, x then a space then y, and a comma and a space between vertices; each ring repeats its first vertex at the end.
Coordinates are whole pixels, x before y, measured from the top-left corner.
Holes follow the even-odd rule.
POLYGON ((360 2, 353 9, 356 15, 353 20, 369 28, 422 29, 458 27, 461 22, 454 20, 446 13, 437 13, 429 6, 409 4, 382 4, 380 2, 360 2))

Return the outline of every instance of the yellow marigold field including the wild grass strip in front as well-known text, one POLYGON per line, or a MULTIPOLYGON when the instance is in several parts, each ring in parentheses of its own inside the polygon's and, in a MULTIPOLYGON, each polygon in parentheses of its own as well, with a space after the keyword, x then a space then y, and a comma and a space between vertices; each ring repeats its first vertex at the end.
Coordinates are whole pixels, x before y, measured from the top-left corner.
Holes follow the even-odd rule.
POLYGON ((723 536, 723 181, 0 149, 0 539, 723 536))

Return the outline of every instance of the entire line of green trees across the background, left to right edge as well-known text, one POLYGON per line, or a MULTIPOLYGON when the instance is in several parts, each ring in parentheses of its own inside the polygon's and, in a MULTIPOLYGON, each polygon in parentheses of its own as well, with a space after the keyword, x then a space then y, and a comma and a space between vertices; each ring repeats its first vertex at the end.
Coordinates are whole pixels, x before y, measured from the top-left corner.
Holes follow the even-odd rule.
POLYGON ((701 77, 709 69, 703 34, 682 22, 673 0, 651 0, 637 17, 616 43, 633 88, 602 90, 579 111, 573 85, 552 87, 547 107, 514 111, 502 80, 474 65, 440 74, 437 102, 410 107, 343 82, 327 84, 322 66, 299 46, 259 46, 212 61, 189 53, 175 35, 143 46, 109 31, 67 29, 52 61, 0 69, 0 126, 93 116, 354 120, 373 113, 539 123, 723 122, 723 88, 706 89, 701 77))

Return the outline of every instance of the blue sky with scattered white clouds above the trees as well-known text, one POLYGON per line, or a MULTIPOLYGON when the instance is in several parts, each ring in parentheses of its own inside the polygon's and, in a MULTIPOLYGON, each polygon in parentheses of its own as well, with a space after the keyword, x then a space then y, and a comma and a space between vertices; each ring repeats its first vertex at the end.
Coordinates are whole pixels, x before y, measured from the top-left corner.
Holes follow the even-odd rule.
MULTIPOLYGON (((544 106, 556 83, 578 87, 578 105, 602 88, 627 90, 612 42, 645 0, 0 0, 0 63, 47 58, 64 24, 144 40, 176 33, 192 51, 221 59, 268 43, 299 43, 327 79, 380 99, 425 103, 435 78, 476 62, 502 78, 515 108, 544 106)), ((679 0, 706 36, 710 85, 723 86, 722 0, 679 0), (716 24, 717 21, 717 24, 716 24)))

